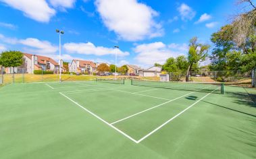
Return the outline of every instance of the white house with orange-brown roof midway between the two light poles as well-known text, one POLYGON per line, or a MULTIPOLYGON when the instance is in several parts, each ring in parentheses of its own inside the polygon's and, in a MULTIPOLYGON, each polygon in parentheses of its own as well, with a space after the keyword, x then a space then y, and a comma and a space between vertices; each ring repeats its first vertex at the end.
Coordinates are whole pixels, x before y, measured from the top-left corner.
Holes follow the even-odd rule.
POLYGON ((97 66, 96 63, 93 61, 84 61, 84 60, 72 60, 70 63, 70 72, 74 73, 88 73, 88 74, 93 74, 97 73, 97 66))

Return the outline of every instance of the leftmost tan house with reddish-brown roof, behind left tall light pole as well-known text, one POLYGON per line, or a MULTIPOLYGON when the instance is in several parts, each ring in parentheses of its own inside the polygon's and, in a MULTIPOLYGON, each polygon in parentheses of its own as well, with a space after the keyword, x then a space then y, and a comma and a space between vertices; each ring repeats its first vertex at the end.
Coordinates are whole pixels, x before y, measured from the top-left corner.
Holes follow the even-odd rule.
MULTIPOLYGON (((34 70, 54 71, 58 73, 59 63, 51 59, 51 57, 44 57, 41 55, 32 55, 23 53, 24 63, 20 67, 7 67, 6 73, 34 73, 34 70)), ((61 67, 62 71, 66 69, 61 67)))

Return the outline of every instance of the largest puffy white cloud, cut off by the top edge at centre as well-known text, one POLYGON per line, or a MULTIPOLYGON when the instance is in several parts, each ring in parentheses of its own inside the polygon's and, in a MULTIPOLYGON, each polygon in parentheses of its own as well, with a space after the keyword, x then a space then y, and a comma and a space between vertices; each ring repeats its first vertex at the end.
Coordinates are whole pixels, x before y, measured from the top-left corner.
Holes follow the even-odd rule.
POLYGON ((105 26, 124 40, 136 41, 163 35, 158 13, 137 0, 97 0, 97 11, 105 26))

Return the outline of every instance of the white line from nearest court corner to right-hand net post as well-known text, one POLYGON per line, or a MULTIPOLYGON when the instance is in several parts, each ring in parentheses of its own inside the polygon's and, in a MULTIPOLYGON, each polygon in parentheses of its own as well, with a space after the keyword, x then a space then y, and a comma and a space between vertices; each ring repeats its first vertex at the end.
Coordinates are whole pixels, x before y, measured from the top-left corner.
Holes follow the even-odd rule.
MULTIPOLYGON (((216 88, 215 90, 217 90, 218 88, 216 88)), ((211 91, 210 93, 206 94, 205 96, 203 96, 203 98, 207 97, 209 94, 211 94, 212 92, 214 92, 215 90, 211 91)), ((188 110, 189 108, 191 108, 192 106, 194 106, 195 104, 197 104, 198 102, 200 102, 201 100, 203 100, 203 98, 197 100, 197 102, 194 102, 192 105, 188 106, 188 108, 185 108, 184 110, 182 110, 180 113, 178 113, 178 115, 175 115, 174 117, 172 117, 171 119, 169 119, 168 121, 166 121, 165 123, 163 123, 162 125, 160 125, 159 127, 157 127, 156 129, 154 129, 153 131, 151 131, 150 133, 148 133, 147 135, 145 135, 144 137, 142 137, 141 139, 139 139, 137 142, 140 143, 140 141, 143 141, 143 139, 146 139, 147 137, 149 137, 150 135, 152 135, 153 133, 155 133, 155 131, 161 129, 161 127, 163 127, 164 125, 168 124, 170 121, 176 119, 176 117, 180 116, 182 113, 184 113, 186 110, 188 110)))

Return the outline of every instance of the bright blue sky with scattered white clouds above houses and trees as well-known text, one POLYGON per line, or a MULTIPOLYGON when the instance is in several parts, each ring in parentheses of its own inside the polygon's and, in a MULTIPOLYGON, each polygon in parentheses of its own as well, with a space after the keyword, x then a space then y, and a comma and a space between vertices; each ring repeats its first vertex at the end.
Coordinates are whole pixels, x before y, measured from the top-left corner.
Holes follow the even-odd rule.
POLYGON ((149 67, 186 55, 188 40, 210 36, 236 13, 228 0, 0 0, 0 51, 19 50, 64 61, 86 59, 149 67), (119 45, 120 49, 113 49, 119 45))

